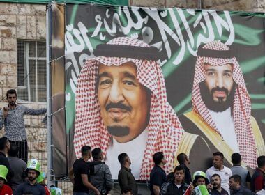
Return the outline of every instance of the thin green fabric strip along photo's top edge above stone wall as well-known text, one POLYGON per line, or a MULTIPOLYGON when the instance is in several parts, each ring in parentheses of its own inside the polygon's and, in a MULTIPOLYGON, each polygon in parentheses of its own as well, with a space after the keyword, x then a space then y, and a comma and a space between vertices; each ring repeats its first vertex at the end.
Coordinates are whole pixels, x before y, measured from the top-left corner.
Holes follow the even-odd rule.
MULTIPOLYGON (((35 3, 35 4, 48 4, 52 3, 52 0, 0 0, 0 2, 8 3, 35 3)), ((56 3, 99 3, 107 5, 121 5, 128 6, 128 0, 56 0, 56 3)))

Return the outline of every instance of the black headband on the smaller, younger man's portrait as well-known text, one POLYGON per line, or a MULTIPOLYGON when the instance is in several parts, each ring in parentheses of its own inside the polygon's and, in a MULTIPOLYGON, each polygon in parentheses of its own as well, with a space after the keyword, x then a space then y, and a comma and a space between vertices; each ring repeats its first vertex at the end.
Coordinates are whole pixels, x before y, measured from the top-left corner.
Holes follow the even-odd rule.
POLYGON ((211 50, 202 48, 204 45, 199 45, 197 56, 210 57, 217 59, 232 59, 234 58, 233 52, 230 50, 211 50))

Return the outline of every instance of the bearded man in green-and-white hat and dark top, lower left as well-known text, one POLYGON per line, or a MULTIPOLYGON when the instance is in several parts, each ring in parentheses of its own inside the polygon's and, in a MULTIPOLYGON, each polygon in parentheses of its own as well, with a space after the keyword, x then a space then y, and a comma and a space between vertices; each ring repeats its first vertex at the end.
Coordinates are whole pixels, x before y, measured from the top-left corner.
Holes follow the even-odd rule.
POLYGON ((29 160, 26 173, 28 180, 17 186, 14 195, 29 194, 29 192, 34 195, 45 195, 44 187, 37 182, 37 178, 40 175, 40 163, 38 160, 29 160))

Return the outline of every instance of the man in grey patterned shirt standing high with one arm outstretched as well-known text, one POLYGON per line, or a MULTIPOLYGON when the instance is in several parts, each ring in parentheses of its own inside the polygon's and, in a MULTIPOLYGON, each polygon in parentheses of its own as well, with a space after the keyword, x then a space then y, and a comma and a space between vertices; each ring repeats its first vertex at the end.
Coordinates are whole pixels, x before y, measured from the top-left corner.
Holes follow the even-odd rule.
POLYGON ((29 109, 23 105, 17 105, 17 92, 10 89, 6 92, 8 106, 0 110, 0 130, 5 125, 6 137, 18 146, 18 157, 27 162, 28 143, 24 125, 24 114, 40 115, 45 114, 46 109, 29 109))

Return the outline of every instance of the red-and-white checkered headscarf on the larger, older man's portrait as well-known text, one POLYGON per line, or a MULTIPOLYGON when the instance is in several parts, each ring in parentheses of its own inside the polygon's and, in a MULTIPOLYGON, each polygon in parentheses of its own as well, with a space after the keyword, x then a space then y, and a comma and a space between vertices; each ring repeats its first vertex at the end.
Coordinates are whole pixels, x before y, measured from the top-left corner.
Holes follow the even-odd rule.
MULTIPOLYGON (((140 40, 127 37, 114 38, 107 44, 150 47, 140 40)), ((183 128, 174 109, 167 102, 165 80, 160 65, 156 61, 105 56, 98 56, 86 61, 78 77, 75 97, 74 146, 77 157, 80 157, 80 148, 84 145, 89 145, 92 148, 100 147, 106 155, 111 141, 111 135, 107 132, 100 116, 100 105, 95 87, 99 62, 105 65, 118 66, 127 62, 135 63, 139 83, 152 92, 149 134, 140 179, 149 180, 149 173, 153 167, 153 154, 158 151, 162 151, 168 160, 165 171, 169 173, 173 169, 176 150, 183 136, 183 128)), ((117 158, 117 156, 114 158, 117 158)))

